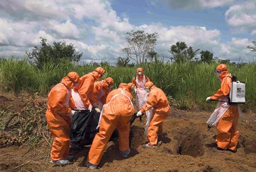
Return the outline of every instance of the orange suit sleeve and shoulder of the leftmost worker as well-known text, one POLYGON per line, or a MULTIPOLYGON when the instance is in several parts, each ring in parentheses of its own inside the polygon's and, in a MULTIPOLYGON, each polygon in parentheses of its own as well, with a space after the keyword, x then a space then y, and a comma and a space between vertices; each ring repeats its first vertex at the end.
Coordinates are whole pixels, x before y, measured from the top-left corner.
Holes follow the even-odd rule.
POLYGON ((63 105, 66 101, 67 91, 65 89, 53 90, 49 94, 48 105, 50 106, 53 113, 59 115, 67 115, 71 108, 63 105))

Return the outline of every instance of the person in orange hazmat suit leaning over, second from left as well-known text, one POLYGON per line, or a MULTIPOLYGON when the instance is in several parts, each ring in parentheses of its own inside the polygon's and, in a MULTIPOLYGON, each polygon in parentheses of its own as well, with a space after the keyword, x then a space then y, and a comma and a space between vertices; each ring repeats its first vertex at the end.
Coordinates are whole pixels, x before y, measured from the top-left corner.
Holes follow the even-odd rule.
POLYGON ((98 107, 94 96, 94 82, 104 77, 105 70, 97 67, 94 71, 80 77, 78 87, 72 89, 72 101, 75 109, 88 110, 92 105, 98 107))

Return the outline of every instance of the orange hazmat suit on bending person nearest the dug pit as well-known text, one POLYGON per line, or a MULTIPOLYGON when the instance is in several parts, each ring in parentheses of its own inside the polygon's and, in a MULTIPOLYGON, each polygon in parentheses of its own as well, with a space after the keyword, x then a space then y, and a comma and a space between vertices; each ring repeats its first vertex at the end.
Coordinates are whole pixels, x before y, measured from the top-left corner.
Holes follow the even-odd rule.
POLYGON ((146 113, 147 110, 153 108, 147 136, 148 144, 154 146, 158 143, 158 136, 162 135, 162 125, 170 114, 170 105, 164 91, 155 87, 152 82, 146 82, 145 87, 150 89, 146 105, 141 108, 141 112, 146 113))

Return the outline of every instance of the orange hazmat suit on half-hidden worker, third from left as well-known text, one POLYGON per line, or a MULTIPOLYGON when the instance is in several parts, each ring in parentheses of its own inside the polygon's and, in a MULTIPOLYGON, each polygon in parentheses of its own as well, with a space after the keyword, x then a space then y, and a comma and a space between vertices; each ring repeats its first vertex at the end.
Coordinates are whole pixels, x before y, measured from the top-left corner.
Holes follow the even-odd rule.
POLYGON ((95 82, 94 96, 97 102, 92 102, 92 103, 97 103, 99 108, 102 108, 103 105, 106 103, 107 96, 111 91, 110 88, 112 88, 113 85, 114 85, 114 80, 110 77, 102 81, 95 82))

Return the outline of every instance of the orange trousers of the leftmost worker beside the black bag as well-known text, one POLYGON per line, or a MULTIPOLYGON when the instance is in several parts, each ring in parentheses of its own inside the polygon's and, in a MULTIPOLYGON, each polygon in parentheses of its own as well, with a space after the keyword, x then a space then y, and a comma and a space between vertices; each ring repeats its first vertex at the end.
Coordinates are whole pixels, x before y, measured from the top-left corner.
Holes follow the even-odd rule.
POLYGON ((51 136, 53 136, 51 159, 53 161, 65 159, 69 153, 70 124, 61 115, 53 114, 50 110, 47 110, 45 116, 51 136))

